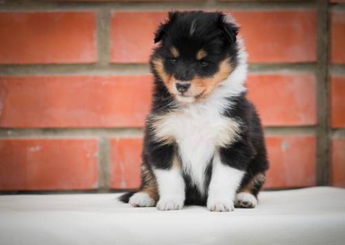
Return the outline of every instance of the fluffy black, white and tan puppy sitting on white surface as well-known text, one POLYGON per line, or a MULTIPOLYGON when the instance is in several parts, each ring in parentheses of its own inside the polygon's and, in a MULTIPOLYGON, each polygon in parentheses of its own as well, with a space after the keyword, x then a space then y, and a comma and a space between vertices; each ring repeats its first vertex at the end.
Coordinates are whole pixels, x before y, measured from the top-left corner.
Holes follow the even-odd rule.
POLYGON ((155 33, 141 187, 121 196, 159 210, 254 208, 268 169, 260 119, 246 99, 246 52, 221 12, 170 12, 155 33))

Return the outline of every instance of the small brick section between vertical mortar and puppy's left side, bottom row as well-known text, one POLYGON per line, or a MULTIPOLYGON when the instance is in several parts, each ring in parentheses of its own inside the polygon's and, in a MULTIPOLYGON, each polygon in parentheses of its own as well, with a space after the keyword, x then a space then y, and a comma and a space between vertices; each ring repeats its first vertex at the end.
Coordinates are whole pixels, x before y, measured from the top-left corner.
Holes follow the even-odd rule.
POLYGON ((139 188, 142 140, 112 139, 110 146, 110 188, 139 188))

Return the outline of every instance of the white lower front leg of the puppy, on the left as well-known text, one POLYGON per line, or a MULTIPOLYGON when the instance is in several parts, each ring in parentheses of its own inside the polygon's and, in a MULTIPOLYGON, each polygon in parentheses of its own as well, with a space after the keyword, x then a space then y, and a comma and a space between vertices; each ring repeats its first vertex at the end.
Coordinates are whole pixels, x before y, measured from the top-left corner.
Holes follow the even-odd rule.
POLYGON ((157 208, 159 210, 177 210, 183 208, 186 193, 181 169, 178 166, 172 166, 169 170, 155 169, 154 173, 157 178, 159 190, 157 208))

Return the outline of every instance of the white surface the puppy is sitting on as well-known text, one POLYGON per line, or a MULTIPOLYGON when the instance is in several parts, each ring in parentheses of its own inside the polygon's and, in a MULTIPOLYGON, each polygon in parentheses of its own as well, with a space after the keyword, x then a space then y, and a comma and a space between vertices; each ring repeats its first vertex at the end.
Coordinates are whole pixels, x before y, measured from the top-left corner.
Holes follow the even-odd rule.
POLYGON ((345 244, 345 189, 265 192, 231 213, 132 208, 117 196, 2 195, 0 244, 345 244))

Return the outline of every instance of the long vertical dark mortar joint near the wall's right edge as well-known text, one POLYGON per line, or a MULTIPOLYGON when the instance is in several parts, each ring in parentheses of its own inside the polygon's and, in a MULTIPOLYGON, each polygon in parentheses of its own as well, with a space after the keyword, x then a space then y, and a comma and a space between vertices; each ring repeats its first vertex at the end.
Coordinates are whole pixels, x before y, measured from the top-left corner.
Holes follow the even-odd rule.
POLYGON ((317 162, 318 186, 329 184, 328 1, 317 1, 317 162))

